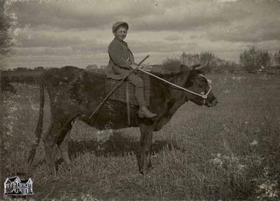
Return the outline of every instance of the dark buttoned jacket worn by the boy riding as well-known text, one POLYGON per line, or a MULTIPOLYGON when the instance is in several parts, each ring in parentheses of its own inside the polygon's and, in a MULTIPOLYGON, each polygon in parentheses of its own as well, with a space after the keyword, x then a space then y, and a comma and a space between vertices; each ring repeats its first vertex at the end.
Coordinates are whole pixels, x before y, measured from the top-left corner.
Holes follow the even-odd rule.
POLYGON ((130 72, 130 64, 134 63, 134 56, 127 43, 115 37, 109 48, 109 64, 106 67, 107 78, 120 80, 130 72))

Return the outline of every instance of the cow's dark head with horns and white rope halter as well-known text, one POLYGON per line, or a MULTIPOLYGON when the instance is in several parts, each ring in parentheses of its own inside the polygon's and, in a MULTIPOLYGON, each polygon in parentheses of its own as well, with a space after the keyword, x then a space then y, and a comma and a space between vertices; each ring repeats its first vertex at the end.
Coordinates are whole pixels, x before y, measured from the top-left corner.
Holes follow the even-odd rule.
POLYGON ((208 63, 202 66, 193 66, 190 71, 188 71, 188 79, 184 88, 190 91, 186 92, 186 101, 190 100, 200 106, 205 105, 212 107, 218 104, 218 100, 211 90, 211 81, 204 74, 203 69, 207 66, 208 63))

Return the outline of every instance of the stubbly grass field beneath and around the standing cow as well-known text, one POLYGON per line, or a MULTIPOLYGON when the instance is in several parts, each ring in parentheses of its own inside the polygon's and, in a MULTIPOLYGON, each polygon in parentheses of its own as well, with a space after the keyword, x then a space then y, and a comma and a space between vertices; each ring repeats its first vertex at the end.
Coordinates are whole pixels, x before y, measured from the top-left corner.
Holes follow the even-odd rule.
MULTIPOLYGON (((18 93, 4 95, 8 175, 31 177, 30 200, 279 200, 280 76, 209 78, 219 105, 188 102, 154 132, 154 169, 145 176, 137 167, 138 128, 98 132, 79 121, 71 131, 70 172, 57 150, 58 176, 45 173, 42 143, 29 167, 38 87, 15 83, 18 93)), ((49 120, 45 104, 44 132, 49 120)))

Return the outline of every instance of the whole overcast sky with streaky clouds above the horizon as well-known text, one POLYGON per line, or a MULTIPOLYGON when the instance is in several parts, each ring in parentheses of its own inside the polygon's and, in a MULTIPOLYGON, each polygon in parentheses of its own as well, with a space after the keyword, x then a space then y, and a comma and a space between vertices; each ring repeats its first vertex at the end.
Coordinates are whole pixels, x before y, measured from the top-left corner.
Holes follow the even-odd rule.
POLYGON ((85 68, 106 65, 113 22, 130 25, 128 46, 139 62, 211 51, 225 60, 253 43, 280 50, 280 1, 270 0, 11 0, 17 17, 18 46, 13 67, 85 68))

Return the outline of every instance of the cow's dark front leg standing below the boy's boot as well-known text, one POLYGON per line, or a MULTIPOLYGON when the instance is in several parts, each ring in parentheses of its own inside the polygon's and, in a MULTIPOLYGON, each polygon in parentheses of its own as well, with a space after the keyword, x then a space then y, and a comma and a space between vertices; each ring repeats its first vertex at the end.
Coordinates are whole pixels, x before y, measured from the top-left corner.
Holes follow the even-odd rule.
POLYGON ((139 171, 140 174, 146 174, 151 164, 151 139, 153 136, 153 125, 140 125, 141 139, 140 139, 140 160, 139 171))

